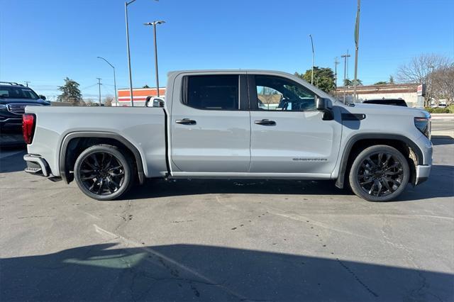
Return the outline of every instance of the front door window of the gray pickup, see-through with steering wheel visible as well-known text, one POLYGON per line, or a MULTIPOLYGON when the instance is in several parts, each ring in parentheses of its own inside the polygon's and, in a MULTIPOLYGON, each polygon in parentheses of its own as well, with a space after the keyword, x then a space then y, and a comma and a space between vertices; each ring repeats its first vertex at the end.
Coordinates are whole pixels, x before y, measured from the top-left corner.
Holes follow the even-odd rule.
POLYGON ((296 82, 281 77, 255 76, 259 110, 315 110, 315 94, 296 82))

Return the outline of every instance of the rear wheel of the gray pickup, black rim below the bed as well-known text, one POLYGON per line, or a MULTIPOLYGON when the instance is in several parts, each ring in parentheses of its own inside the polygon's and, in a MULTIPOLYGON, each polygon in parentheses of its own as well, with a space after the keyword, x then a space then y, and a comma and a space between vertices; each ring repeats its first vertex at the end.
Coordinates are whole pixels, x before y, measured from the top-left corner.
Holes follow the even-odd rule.
POLYGON ((133 162, 118 147, 94 145, 77 157, 74 179, 85 195, 99 201, 110 201, 131 188, 133 162))

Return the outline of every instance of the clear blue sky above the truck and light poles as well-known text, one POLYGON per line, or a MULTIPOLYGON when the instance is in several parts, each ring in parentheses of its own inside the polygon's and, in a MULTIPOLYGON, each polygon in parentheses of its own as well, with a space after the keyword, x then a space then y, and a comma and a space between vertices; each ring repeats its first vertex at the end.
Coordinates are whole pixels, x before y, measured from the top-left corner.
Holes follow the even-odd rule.
MULTIPOLYGON (((58 94, 63 78, 76 80, 84 97, 128 86, 124 1, 0 0, 0 80, 30 81, 38 94, 58 94)), ((304 72, 315 62, 334 68, 352 54, 355 0, 137 0, 128 8, 133 85, 155 85, 153 32, 159 26, 160 81, 175 69, 277 69, 304 72)), ((454 57, 453 0, 362 0, 358 77, 364 84, 389 79, 423 52, 454 57)), ((338 65, 339 78, 343 64, 338 65)))

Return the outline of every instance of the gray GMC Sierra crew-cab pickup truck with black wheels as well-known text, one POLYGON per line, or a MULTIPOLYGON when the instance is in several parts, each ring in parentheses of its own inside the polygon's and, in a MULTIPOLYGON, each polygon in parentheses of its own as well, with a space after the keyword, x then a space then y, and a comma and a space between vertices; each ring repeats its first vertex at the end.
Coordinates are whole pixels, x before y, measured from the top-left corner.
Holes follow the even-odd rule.
MULTIPOLYGON (((179 71, 159 107, 26 107, 26 172, 98 200, 145 178, 336 179, 389 201, 431 171, 431 117, 342 104, 284 72, 179 71)), ((151 188, 153 189, 153 188, 151 188)))

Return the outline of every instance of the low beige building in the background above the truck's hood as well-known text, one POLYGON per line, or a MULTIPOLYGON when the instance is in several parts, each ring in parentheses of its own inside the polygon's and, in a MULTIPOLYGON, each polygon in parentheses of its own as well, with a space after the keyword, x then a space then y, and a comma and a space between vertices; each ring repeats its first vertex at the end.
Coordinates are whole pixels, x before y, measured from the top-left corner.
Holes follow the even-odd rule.
MULTIPOLYGON (((409 107, 414 107, 418 99, 417 88, 418 84, 367 85, 357 86, 356 92, 360 102, 368 99, 404 99, 409 107)), ((338 99, 342 100, 345 94, 346 102, 353 101, 353 86, 338 87, 336 93, 338 99)))

